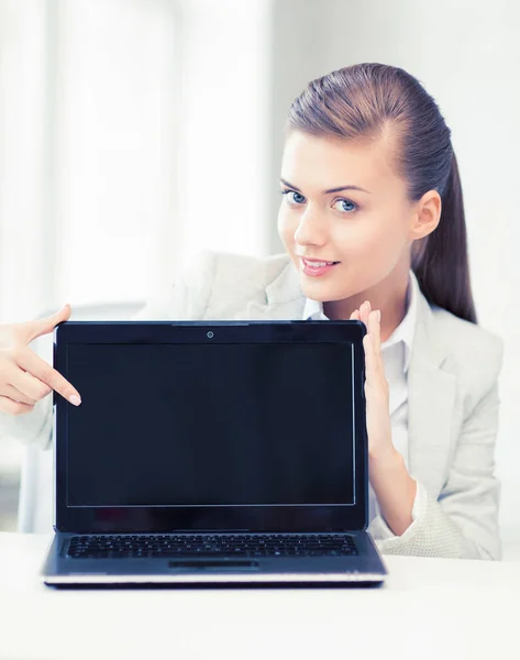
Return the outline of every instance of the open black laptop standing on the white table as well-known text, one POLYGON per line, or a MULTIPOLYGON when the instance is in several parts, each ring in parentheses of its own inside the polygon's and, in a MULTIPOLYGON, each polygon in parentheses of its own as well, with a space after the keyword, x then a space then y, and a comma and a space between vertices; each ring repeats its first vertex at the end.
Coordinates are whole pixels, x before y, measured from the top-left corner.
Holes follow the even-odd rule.
POLYGON ((361 321, 64 321, 47 585, 381 585, 361 321))

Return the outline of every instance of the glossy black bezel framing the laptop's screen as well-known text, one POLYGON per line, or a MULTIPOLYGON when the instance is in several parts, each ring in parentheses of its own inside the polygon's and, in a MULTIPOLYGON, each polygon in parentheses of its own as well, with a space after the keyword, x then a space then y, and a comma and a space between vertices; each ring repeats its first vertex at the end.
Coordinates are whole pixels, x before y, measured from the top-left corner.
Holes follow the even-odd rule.
POLYGON ((123 534, 172 531, 355 531, 368 525, 368 448, 364 400, 366 327, 345 321, 64 321, 54 330, 54 366, 68 377, 67 351, 71 343, 236 343, 262 341, 341 341, 354 352, 355 504, 295 507, 68 507, 66 502, 67 419, 71 404, 54 393, 55 520, 56 531, 123 534), (217 331, 218 328, 218 331, 217 331), (208 333, 212 332, 212 337, 208 333), (197 526, 203 513, 204 527, 197 526), (208 513, 214 525, 208 527, 208 513), (274 517, 274 514, 276 516, 274 517), (308 514, 306 516, 306 513, 308 514), (226 522, 228 518, 228 522, 226 522), (301 525, 306 519, 308 524, 301 525), (273 520, 276 520, 274 524, 273 520))

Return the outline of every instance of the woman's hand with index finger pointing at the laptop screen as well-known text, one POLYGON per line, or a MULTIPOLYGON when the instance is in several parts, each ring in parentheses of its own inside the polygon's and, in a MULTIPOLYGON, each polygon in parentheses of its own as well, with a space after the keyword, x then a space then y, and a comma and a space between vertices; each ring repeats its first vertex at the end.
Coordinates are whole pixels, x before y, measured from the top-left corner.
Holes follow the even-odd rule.
POLYGON ((31 413, 36 402, 53 389, 79 405, 78 391, 27 345, 69 317, 70 307, 66 305, 43 319, 0 326, 0 410, 8 415, 31 413))

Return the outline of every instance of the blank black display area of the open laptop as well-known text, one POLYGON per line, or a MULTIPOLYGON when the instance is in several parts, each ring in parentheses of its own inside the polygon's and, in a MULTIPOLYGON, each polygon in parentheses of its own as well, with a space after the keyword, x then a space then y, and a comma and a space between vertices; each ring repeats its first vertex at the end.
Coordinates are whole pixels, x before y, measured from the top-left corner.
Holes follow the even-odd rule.
POLYGON ((355 504, 348 342, 70 343, 68 507, 355 504))

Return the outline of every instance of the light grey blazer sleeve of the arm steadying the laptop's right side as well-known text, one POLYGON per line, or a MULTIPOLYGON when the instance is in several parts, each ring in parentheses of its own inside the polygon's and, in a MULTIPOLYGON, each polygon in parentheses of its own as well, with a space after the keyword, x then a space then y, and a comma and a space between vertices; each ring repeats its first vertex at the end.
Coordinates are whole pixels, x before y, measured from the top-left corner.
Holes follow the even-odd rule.
POLYGON ((498 528, 500 482, 495 476, 498 430, 498 375, 504 343, 496 342, 487 388, 466 416, 447 480, 435 499, 421 488, 417 518, 401 536, 388 537, 379 515, 369 531, 385 554, 414 554, 458 559, 501 559, 498 528))

